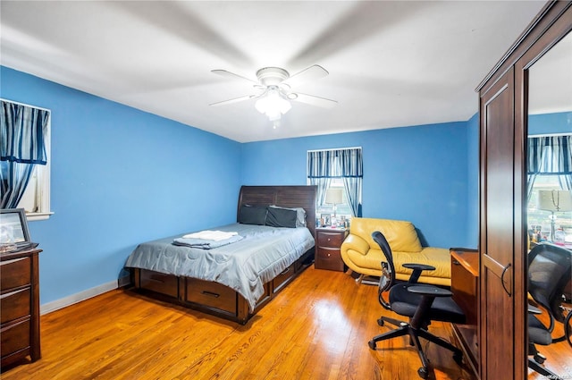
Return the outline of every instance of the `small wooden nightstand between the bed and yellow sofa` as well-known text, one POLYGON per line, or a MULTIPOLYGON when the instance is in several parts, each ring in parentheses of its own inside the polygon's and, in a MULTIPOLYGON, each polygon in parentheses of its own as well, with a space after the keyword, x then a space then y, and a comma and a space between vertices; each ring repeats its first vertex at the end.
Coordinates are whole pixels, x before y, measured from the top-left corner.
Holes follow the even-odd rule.
POLYGON ((348 232, 337 228, 315 229, 315 268, 345 272, 346 265, 341 259, 340 247, 348 232))

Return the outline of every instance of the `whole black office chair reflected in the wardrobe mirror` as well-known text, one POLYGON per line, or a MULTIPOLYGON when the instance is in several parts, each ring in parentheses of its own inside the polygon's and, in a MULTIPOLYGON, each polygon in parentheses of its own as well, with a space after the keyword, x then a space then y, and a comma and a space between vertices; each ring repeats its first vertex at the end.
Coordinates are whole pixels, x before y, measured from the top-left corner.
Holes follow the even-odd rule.
POLYGON ((565 333, 562 336, 553 338, 552 332, 557 322, 568 324, 562 301, 564 290, 571 278, 570 250, 543 243, 528 253, 528 294, 539 307, 531 307, 528 310, 528 355, 533 357, 528 358, 528 367, 551 379, 561 379, 561 377, 541 366, 546 358, 536 349, 536 344, 547 346, 567 339, 568 328, 564 325, 565 333), (546 311, 548 326, 535 317, 542 313, 542 309, 546 311))

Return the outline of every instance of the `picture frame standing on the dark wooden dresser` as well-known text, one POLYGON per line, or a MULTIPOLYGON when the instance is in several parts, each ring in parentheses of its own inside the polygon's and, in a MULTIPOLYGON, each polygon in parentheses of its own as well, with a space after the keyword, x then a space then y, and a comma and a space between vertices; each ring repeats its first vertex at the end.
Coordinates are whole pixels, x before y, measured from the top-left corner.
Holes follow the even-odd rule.
POLYGON ((28 219, 23 208, 0 209, 0 252, 29 247, 28 219))

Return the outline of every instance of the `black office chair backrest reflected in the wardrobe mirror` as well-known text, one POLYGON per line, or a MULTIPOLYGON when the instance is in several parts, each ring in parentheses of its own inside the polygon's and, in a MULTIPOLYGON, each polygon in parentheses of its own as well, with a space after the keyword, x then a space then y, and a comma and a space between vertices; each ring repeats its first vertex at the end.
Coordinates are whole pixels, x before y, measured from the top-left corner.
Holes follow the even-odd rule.
POLYGON ((572 252, 568 249, 539 244, 528 253, 528 292, 559 322, 564 321, 560 304, 571 278, 572 252))

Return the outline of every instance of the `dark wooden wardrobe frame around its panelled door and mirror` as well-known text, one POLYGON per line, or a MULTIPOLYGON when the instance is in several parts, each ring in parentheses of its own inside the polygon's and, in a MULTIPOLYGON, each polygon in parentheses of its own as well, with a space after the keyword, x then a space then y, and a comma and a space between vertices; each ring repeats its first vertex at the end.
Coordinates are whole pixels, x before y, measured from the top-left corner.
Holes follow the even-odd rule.
MULTIPOLYGON (((489 226, 486 224, 484 212, 486 210, 486 198, 484 196, 486 190, 486 135, 484 135, 487 121, 483 120, 486 117, 484 112, 484 103, 490 100, 491 93, 494 87, 502 86, 500 83, 506 81, 505 75, 514 79, 514 150, 513 150, 513 164, 514 164, 514 177, 513 177, 513 213, 514 213, 514 257, 512 263, 512 308, 504 312, 506 317, 512 317, 512 326, 514 328, 514 344, 513 344, 513 359, 514 359, 514 373, 512 378, 520 380, 527 376, 527 323, 526 323, 526 278, 527 278, 527 233, 526 233, 526 137, 527 137, 527 120, 528 120, 528 69, 544 55, 552 46, 564 38, 569 32, 572 31, 572 2, 568 1, 553 1, 546 4, 539 15, 528 26, 525 32, 517 39, 515 44, 509 48, 509 51, 502 57, 501 61, 495 65, 492 72, 483 80, 477 87, 481 94, 481 180, 480 180, 480 249, 487 248, 486 239, 489 226), (487 95, 488 94, 488 95, 487 95)), ((481 250, 481 277, 480 277, 480 291, 486 291, 487 277, 486 273, 488 267, 493 268, 498 266, 493 263, 490 258, 486 258, 483 250, 481 250), (487 264, 489 266, 487 266, 487 264), (485 275, 483 275, 485 274, 485 275)), ((502 263, 500 263, 502 266, 502 263)), ((498 268, 497 268, 498 269, 498 268)), ((499 311, 497 310, 497 313, 499 311)), ((479 324, 479 342, 481 347, 479 375, 481 379, 491 378, 494 379, 495 375, 488 376, 487 355, 488 342, 484 342, 484 336, 487 327, 486 308, 480 305, 479 309, 480 321, 479 324)), ((502 334, 501 331, 498 334, 502 334)), ((509 375, 509 374, 505 374, 509 375)), ((506 377, 510 378, 510 377, 506 377)))

